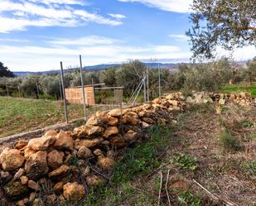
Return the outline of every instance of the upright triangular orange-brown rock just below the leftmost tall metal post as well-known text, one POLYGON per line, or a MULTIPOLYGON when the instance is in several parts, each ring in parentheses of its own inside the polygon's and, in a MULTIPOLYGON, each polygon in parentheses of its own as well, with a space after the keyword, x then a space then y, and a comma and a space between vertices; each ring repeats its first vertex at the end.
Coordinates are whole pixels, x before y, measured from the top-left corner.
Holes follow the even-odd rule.
POLYGON ((57 135, 56 142, 54 147, 57 150, 69 150, 72 151, 74 149, 74 142, 72 137, 68 132, 64 132, 60 130, 59 134, 57 135))

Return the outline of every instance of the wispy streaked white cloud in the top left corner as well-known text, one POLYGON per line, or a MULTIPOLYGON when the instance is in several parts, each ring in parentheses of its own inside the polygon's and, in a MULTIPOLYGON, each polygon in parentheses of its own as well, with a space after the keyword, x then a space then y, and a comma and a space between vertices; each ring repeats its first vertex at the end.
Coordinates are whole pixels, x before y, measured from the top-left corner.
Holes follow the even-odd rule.
POLYGON ((122 24, 120 19, 72 7, 73 4, 84 6, 86 3, 82 0, 2 0, 0 32, 26 30, 27 26, 82 26, 87 22, 110 26, 122 24))

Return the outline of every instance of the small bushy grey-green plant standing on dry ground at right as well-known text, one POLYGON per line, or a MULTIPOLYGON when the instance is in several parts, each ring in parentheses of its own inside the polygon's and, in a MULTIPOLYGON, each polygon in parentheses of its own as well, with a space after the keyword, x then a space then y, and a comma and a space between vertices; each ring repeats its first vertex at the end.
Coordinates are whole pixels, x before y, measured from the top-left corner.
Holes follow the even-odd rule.
POLYGON ((241 141, 232 135, 229 129, 220 132, 220 144, 229 151, 239 151, 242 149, 241 141))

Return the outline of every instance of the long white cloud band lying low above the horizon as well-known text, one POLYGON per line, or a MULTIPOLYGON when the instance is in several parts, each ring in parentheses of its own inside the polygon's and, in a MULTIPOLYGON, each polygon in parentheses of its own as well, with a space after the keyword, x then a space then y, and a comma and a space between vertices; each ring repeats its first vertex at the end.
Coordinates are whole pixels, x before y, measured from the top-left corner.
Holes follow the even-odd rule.
MULTIPOLYGON (((0 39, 1 41, 1 39, 0 39)), ((18 40, 16 40, 18 41, 18 40)), ((26 40, 22 40, 26 41, 26 40)), ((30 45, 33 42, 30 41, 30 45)), ((59 69, 60 61, 65 66, 79 65, 79 55, 85 64, 98 65, 122 63, 127 60, 160 62, 188 62, 191 57, 189 50, 181 50, 178 46, 147 45, 128 46, 127 42, 105 36, 83 36, 78 39, 50 39, 44 41, 45 46, 8 46, 7 41, 0 44, 1 61, 16 71, 43 71, 59 69)), ((229 52, 217 49, 218 57, 229 56, 229 52)), ((256 54, 254 46, 236 49, 234 60, 249 60, 256 54)))

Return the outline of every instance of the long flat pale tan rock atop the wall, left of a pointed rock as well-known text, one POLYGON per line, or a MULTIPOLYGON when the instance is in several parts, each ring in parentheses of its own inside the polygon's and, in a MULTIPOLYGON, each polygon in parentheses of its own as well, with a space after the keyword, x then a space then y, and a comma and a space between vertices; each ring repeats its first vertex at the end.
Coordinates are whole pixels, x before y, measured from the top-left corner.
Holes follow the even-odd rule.
POLYGON ((43 136, 40 138, 31 139, 28 142, 27 147, 30 147, 34 151, 46 151, 56 141, 56 136, 43 136))

